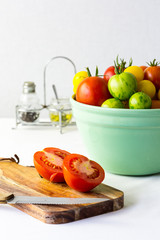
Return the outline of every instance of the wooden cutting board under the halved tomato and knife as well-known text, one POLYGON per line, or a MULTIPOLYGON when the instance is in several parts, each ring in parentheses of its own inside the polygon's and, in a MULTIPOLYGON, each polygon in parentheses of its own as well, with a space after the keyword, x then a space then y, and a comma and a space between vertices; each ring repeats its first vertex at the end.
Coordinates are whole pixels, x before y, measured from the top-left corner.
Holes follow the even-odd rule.
POLYGON ((119 210, 123 207, 123 192, 100 184, 88 193, 80 193, 65 183, 51 183, 41 178, 34 167, 25 167, 14 162, 0 162, 0 191, 16 195, 50 197, 107 197, 110 200, 100 203, 79 205, 33 205, 12 204, 13 207, 41 220, 44 223, 57 224, 72 222, 103 213, 119 210))

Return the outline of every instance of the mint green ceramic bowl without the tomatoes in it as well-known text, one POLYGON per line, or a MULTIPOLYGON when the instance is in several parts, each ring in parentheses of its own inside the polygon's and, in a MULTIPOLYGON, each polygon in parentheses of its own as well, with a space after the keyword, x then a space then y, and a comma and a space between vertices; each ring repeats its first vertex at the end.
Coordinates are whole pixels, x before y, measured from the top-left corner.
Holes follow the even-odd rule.
POLYGON ((88 157, 107 172, 148 175, 160 172, 160 109, 115 109, 71 98, 73 115, 88 157))

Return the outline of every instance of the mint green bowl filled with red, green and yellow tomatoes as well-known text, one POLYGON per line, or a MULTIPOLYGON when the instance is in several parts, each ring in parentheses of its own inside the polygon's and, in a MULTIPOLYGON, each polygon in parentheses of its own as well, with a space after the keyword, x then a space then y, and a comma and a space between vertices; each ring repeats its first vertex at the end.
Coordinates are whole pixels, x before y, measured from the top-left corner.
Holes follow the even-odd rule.
POLYGON ((156 78, 155 84, 149 77, 144 79, 146 69, 138 82, 136 74, 130 72, 127 76, 124 71, 107 81, 104 77, 88 76, 71 97, 73 115, 88 156, 107 172, 120 175, 160 172, 160 73, 159 83, 156 78), (153 83, 153 91, 138 90, 144 80, 153 83))

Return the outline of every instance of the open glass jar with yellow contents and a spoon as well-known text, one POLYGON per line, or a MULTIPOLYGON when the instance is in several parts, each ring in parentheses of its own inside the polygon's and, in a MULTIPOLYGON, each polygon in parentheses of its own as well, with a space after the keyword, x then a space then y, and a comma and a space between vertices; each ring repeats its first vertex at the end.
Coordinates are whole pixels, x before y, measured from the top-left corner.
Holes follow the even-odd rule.
POLYGON ((51 122, 62 127, 67 126, 72 119, 72 109, 68 98, 52 99, 48 107, 51 122))

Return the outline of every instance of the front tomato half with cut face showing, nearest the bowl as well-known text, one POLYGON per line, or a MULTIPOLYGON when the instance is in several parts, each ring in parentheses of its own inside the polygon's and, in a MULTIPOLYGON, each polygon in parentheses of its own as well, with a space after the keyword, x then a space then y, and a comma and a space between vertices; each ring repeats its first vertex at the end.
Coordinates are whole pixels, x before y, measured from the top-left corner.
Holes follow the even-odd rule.
POLYGON ((79 154, 70 154, 65 157, 63 174, 68 186, 80 192, 90 191, 105 177, 105 172, 98 163, 79 154))

